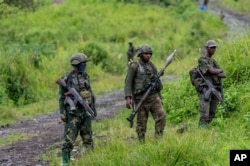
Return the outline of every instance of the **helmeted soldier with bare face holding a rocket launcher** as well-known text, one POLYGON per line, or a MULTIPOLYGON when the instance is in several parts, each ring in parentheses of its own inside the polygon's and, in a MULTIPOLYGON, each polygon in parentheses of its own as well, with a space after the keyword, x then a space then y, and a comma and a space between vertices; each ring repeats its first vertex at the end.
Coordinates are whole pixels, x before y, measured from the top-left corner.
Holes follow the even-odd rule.
MULTIPOLYGON (((135 106, 140 102, 151 81, 157 75, 157 69, 150 61, 152 54, 152 48, 147 44, 143 44, 137 49, 139 60, 131 62, 128 66, 124 88, 126 107, 128 109, 131 109, 132 102, 134 102, 135 106)), ((166 113, 162 106, 161 89, 162 83, 159 80, 156 88, 148 95, 137 112, 136 133, 142 143, 145 142, 149 112, 155 121, 155 136, 158 138, 163 135, 166 113)))

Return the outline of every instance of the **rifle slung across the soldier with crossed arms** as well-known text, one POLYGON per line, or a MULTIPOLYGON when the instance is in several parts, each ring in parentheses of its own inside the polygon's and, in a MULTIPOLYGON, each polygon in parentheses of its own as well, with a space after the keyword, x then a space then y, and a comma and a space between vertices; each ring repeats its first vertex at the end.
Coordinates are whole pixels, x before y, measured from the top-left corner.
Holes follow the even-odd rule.
POLYGON ((199 72, 201 78, 205 81, 205 84, 208 86, 208 90, 205 92, 204 99, 206 101, 208 101, 211 94, 213 94, 221 102, 221 105, 223 106, 224 110, 227 111, 227 108, 225 105, 225 100, 224 100, 222 85, 220 87, 221 88, 221 96, 220 96, 218 91, 214 88, 213 84, 209 80, 205 79, 203 74, 200 72, 200 69, 198 69, 198 72, 199 72))

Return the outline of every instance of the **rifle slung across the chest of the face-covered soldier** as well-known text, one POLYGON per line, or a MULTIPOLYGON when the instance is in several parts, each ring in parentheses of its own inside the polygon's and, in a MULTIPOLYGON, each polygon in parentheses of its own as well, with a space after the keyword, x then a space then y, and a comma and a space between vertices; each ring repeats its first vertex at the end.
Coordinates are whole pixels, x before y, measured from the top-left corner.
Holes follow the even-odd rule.
MULTIPOLYGON (((68 98, 68 103, 69 105, 75 105, 77 103, 80 103, 83 108, 87 111, 87 114, 92 118, 95 119, 95 113, 94 111, 91 109, 91 107, 88 105, 88 103, 80 96, 80 94, 76 91, 75 88, 70 88, 66 85, 65 81, 63 79, 58 79, 56 81, 57 84, 61 85, 62 87, 66 88, 69 92, 67 92, 65 95, 71 94, 73 96, 74 101, 69 100, 68 98)), ((71 107, 72 109, 74 109, 74 107, 71 107)))

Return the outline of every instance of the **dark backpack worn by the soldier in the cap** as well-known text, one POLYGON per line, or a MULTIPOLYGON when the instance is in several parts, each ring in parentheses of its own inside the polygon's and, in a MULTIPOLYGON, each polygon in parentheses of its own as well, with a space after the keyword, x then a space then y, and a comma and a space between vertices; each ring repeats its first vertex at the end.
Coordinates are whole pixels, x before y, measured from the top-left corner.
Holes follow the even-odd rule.
POLYGON ((194 67, 189 71, 189 77, 192 85, 195 87, 195 90, 197 92, 201 92, 203 89, 204 85, 204 80, 202 79, 200 73, 199 73, 199 68, 194 67))

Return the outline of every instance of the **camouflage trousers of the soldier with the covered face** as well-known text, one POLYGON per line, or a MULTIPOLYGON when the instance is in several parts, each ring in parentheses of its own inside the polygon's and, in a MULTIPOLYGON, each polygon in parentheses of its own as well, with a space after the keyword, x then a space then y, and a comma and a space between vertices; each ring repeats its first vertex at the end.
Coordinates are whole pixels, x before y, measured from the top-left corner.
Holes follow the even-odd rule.
POLYGON ((74 142, 78 134, 82 139, 82 144, 88 150, 93 149, 91 117, 86 114, 68 114, 67 122, 64 124, 64 143, 62 151, 70 152, 74 148, 74 142))

